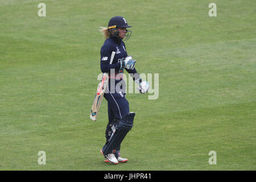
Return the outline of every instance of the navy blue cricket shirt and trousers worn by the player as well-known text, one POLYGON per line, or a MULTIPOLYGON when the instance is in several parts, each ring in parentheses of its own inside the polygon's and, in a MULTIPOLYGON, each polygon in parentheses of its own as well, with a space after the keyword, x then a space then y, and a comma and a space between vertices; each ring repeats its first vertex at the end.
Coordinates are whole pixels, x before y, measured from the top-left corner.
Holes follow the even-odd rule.
MULTIPOLYGON (((125 94, 123 92, 117 92, 117 90, 114 91, 114 93, 110 92, 110 84, 113 82, 115 85, 117 85, 120 82, 124 82, 122 80, 122 76, 119 73, 119 69, 121 67, 120 61, 122 59, 125 59, 127 57, 126 47, 125 43, 118 39, 117 37, 111 35, 108 39, 105 40, 103 46, 101 47, 101 71, 103 73, 109 73, 109 84, 104 94, 105 99, 108 101, 108 116, 109 116, 109 122, 106 127, 106 140, 108 142, 109 138, 111 137, 113 133, 113 126, 115 127, 117 125, 118 119, 122 118, 124 115, 128 114, 130 112, 129 110, 129 102, 125 98, 125 94), (110 64, 110 57, 112 55, 112 52, 115 52, 115 56, 113 59, 112 64, 110 64), (110 69, 115 70, 115 75, 110 75, 110 69), (119 73, 119 74, 118 74, 119 73), (115 79, 117 78, 117 75, 119 75, 119 80, 115 79)), ((136 69, 126 69, 128 73, 137 73, 136 69)), ((135 74, 136 76, 133 77, 133 80, 137 80, 138 74, 135 74)), ((123 84, 124 85, 124 84, 123 84)), ((122 86, 121 86, 122 89, 122 86)), ((120 149, 119 149, 120 150, 120 149)))

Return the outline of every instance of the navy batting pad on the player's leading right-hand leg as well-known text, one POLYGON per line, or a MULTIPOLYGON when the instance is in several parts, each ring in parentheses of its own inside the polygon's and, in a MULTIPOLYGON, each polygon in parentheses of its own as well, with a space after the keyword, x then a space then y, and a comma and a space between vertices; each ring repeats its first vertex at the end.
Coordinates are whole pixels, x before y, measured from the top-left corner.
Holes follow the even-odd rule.
POLYGON ((120 144, 122 143, 122 140, 126 137, 126 134, 133 127, 134 117, 135 113, 131 112, 120 119, 115 133, 113 133, 112 137, 109 139, 108 144, 106 144, 106 146, 102 150, 105 155, 118 150, 120 144))

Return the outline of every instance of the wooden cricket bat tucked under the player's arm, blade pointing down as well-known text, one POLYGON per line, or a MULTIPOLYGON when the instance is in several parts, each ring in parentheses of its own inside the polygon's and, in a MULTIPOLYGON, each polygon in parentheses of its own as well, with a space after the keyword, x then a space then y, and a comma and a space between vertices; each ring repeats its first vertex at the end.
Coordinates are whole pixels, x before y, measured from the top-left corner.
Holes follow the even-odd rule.
MULTIPOLYGON (((109 64, 112 64, 114 56, 115 56, 115 52, 113 51, 110 57, 109 64)), ((92 119, 92 121, 97 120, 98 111, 100 110, 101 101, 104 96, 106 87, 108 86, 108 82, 109 82, 109 73, 103 73, 101 82, 98 84, 97 92, 93 100, 92 110, 90 111, 90 119, 92 119)))

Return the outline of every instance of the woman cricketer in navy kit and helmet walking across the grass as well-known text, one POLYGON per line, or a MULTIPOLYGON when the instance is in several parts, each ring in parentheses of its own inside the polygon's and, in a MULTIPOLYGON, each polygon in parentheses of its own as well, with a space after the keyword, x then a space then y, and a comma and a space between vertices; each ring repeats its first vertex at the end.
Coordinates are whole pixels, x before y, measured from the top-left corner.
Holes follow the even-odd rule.
POLYGON ((126 100, 126 93, 122 89, 125 86, 122 80, 123 70, 125 69, 130 73, 133 80, 138 83, 140 93, 147 93, 149 88, 148 83, 142 81, 134 68, 136 60, 128 56, 126 52, 123 40, 128 40, 131 36, 131 31, 126 29, 129 27, 131 26, 122 16, 111 18, 108 28, 101 27, 106 40, 101 47, 100 67, 103 73, 109 73, 109 84, 104 93, 104 98, 108 101, 109 122, 105 131, 106 143, 102 147, 101 154, 105 156, 105 162, 114 164, 128 161, 121 158, 120 148, 122 140, 133 127, 135 116, 135 113, 129 110, 129 102, 126 100))

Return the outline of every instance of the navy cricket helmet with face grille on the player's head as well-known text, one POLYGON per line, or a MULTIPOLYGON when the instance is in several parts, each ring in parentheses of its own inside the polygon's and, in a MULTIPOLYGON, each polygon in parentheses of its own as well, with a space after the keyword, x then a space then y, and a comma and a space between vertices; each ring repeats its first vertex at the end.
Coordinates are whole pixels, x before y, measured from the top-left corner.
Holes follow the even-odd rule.
MULTIPOLYGON (((117 28, 129 28, 131 26, 128 25, 127 21, 125 18, 123 18, 123 16, 114 16, 113 18, 111 18, 109 20, 109 24, 108 24, 108 30, 109 32, 112 32, 113 36, 116 36, 117 38, 121 39, 118 34, 119 31, 117 28)), ((128 40, 131 36, 131 31, 126 29, 126 34, 125 34, 125 39, 124 40, 128 40)))

